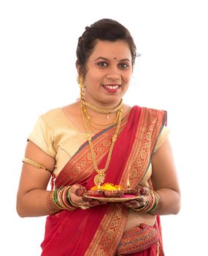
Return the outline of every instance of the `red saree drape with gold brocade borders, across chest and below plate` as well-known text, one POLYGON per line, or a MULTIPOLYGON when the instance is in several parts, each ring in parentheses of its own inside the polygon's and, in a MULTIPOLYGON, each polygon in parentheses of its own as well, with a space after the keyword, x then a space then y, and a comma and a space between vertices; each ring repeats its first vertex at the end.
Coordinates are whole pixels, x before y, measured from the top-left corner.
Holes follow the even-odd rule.
MULTIPOLYGON (((122 121, 104 182, 127 187, 129 180, 132 188, 138 187, 150 165, 155 143, 165 121, 165 111, 134 106, 128 119, 122 121)), ((104 168, 114 132, 115 126, 93 136, 92 143, 99 168, 104 168)), ((94 186, 95 175, 90 148, 86 142, 58 174, 55 187, 77 183, 90 189, 94 186)), ((85 211, 78 208, 52 214, 46 221, 42 256, 116 255, 127 216, 128 208, 122 203, 107 203, 85 211)), ((160 229, 159 219, 157 225, 160 229)), ((155 246, 158 248, 158 245, 155 246)), ((148 252, 145 250, 134 255, 156 255, 158 249, 155 246, 147 249, 148 252)), ((161 241, 160 246, 162 248, 161 241)))

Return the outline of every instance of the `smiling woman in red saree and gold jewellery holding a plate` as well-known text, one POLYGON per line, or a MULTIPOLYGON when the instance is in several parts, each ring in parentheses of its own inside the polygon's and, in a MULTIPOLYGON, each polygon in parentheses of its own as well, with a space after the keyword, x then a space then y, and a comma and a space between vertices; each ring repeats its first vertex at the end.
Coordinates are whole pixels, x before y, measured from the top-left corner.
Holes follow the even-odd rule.
POLYGON ((42 256, 163 255, 159 215, 178 213, 180 189, 166 112, 123 104, 135 58, 120 23, 86 27, 77 45, 80 100, 40 116, 28 138, 17 210, 48 215, 42 256), (108 183, 142 196, 83 196, 108 183))

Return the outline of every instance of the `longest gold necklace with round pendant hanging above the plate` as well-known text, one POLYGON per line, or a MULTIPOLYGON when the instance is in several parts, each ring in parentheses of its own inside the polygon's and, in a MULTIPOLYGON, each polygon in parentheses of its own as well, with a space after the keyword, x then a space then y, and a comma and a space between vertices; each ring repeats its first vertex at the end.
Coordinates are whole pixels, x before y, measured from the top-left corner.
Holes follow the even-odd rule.
POLYGON ((97 166, 97 163, 96 163, 96 156, 95 156, 95 153, 94 153, 94 150, 93 150, 92 138, 91 138, 91 135, 90 135, 90 132, 89 132, 89 129, 88 129, 88 125, 85 122, 84 106, 83 106, 83 104, 81 102, 82 121, 83 121, 83 124, 84 124, 84 127, 85 127, 85 133, 87 135, 88 143, 89 143, 89 146, 90 146, 90 151, 91 151, 91 154, 92 154, 93 167, 95 168, 96 173, 98 173, 98 174, 96 174, 96 176, 94 177, 94 180, 93 180, 94 184, 97 185, 97 186, 104 183, 105 172, 107 171, 107 168, 109 166, 109 161, 110 161, 110 158, 111 158, 111 155, 112 155, 112 149, 113 149, 113 147, 115 145, 115 141, 118 138, 118 132, 120 130, 120 123, 121 123, 121 119, 122 119, 122 115, 123 115, 123 108, 122 108, 122 106, 121 106, 120 109, 118 109, 118 111, 119 111, 118 124, 117 124, 117 127, 115 129, 115 134, 112 136, 112 143, 111 143, 111 146, 109 147, 109 153, 108 153, 108 156, 107 156, 107 162, 105 164, 104 169, 99 169, 98 166, 97 166))

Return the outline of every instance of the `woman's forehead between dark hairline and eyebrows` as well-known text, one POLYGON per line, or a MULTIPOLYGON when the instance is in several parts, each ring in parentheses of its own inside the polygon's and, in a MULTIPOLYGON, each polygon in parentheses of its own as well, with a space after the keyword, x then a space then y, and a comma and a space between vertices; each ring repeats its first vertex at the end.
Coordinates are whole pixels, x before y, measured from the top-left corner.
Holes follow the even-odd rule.
POLYGON ((89 60, 99 56, 107 59, 129 59, 131 61, 131 51, 128 44, 121 40, 115 42, 97 40, 89 60))

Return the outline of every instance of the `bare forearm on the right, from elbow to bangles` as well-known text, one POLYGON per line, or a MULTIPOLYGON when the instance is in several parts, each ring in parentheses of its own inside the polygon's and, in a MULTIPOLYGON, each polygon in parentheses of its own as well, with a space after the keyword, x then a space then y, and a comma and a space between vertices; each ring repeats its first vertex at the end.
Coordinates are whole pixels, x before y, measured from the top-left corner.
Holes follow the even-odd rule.
POLYGON ((158 189, 159 196, 157 208, 151 212, 154 215, 177 214, 180 211, 180 192, 172 189, 158 189))

